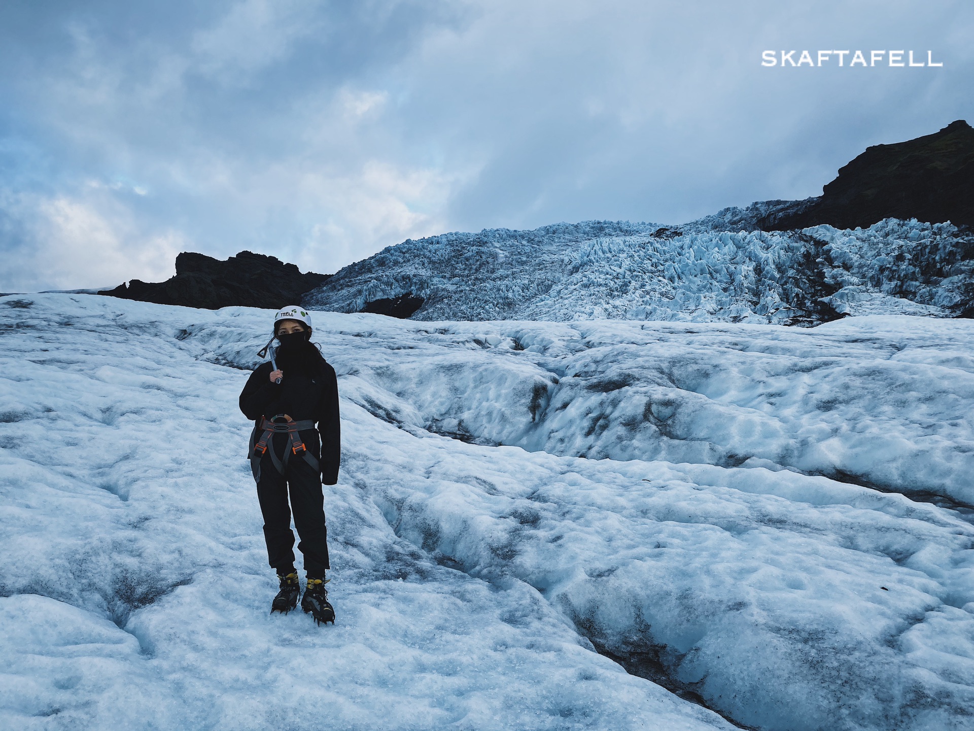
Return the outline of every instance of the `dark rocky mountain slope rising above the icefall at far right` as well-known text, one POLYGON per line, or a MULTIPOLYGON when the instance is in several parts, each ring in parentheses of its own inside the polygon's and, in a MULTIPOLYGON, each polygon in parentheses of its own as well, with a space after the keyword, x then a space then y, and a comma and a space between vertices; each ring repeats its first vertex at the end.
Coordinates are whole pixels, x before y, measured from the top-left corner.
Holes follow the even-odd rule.
POLYGON ((759 219, 766 231, 828 223, 866 228, 883 218, 974 225, 974 129, 957 120, 933 135, 868 147, 818 198, 759 219))

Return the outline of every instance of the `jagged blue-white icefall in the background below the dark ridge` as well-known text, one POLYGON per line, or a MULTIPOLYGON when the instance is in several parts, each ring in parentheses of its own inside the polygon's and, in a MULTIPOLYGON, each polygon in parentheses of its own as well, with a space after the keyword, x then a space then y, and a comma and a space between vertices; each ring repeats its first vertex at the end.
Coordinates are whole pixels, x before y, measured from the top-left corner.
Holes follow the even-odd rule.
POLYGON ((970 310, 974 237, 950 223, 765 232, 763 205, 680 226, 584 221, 409 240, 345 267, 305 303, 359 312, 409 294, 425 300, 414 320, 780 325, 970 310))

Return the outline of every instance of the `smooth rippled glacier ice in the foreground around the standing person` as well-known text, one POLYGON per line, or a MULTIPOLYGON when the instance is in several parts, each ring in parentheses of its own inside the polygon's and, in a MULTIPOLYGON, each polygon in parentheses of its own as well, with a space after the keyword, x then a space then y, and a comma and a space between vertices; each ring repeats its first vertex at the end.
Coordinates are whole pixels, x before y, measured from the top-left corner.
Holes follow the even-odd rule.
POLYGON ((314 317, 321 628, 268 613, 270 313, 0 298, 4 727, 974 724, 974 322, 314 317))

